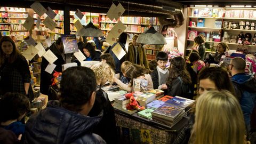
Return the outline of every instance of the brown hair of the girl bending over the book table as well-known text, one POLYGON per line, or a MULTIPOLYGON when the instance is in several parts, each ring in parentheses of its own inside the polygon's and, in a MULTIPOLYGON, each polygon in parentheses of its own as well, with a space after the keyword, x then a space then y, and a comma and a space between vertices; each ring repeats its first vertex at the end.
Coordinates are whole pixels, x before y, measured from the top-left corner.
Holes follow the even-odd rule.
POLYGON ((133 84, 133 78, 145 76, 145 74, 148 74, 148 70, 142 66, 132 64, 129 68, 125 70, 125 74, 127 77, 131 78, 130 83, 133 84))

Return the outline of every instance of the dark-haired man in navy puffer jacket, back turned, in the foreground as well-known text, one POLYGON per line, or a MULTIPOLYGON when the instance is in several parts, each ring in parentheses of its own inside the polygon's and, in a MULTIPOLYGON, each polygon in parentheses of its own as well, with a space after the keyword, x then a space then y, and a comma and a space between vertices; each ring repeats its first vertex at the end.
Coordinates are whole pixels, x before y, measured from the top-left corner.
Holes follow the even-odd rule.
POLYGON ((25 143, 106 143, 92 133, 103 111, 87 116, 94 105, 96 85, 90 68, 66 69, 60 82, 60 100, 49 101, 45 109, 30 116, 25 143))

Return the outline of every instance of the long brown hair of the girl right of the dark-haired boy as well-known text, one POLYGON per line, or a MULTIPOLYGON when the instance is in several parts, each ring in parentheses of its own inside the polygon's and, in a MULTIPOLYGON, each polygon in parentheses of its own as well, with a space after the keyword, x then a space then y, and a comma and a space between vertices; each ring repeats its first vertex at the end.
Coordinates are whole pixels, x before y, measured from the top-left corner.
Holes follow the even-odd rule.
POLYGON ((190 75, 185 68, 185 60, 182 57, 175 57, 171 61, 171 68, 166 84, 171 86, 172 81, 179 76, 183 83, 191 84, 190 75))

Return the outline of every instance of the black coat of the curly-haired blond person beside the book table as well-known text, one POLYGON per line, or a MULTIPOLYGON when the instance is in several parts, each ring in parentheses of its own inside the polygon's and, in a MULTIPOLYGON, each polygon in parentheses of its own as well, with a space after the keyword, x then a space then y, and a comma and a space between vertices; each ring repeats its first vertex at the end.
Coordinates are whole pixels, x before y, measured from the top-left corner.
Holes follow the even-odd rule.
POLYGON ((98 116, 102 110, 104 111, 103 117, 94 127, 93 133, 99 134, 107 143, 117 143, 114 108, 108 99, 108 94, 97 85, 95 102, 88 116, 98 116))

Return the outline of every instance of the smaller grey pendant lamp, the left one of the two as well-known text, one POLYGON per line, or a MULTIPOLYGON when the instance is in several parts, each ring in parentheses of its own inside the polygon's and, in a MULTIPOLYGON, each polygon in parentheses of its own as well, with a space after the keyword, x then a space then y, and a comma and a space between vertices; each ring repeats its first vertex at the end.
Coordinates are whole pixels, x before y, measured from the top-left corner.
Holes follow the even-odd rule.
POLYGON ((103 36, 102 31, 93 25, 91 12, 90 12, 90 22, 86 26, 84 26, 82 29, 80 29, 77 32, 77 35, 78 36, 87 36, 87 37, 102 37, 103 36))

